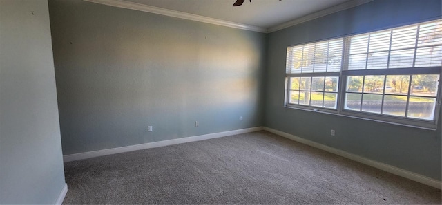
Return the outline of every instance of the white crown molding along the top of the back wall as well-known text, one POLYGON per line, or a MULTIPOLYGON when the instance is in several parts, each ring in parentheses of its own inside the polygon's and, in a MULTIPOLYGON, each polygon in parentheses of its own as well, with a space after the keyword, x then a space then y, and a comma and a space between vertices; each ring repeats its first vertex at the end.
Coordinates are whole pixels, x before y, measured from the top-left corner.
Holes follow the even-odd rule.
POLYGON ((223 26, 227 26, 227 27, 231 27, 231 28, 239 28, 242 30, 251 30, 254 32, 262 32, 262 33, 267 32, 267 29, 260 28, 258 26, 246 25, 246 24, 241 24, 241 23, 234 23, 231 21, 224 21, 224 20, 220 20, 220 19, 213 19, 210 17, 203 17, 200 15, 189 14, 186 12, 179 12, 179 11, 169 10, 169 9, 165 9, 165 8, 159 8, 159 7, 155 7, 155 6, 147 6, 147 5, 144 5, 141 3, 133 3, 133 2, 124 1, 124 0, 83 0, 83 1, 104 4, 107 6, 115 6, 115 7, 119 7, 119 8, 127 8, 127 9, 131 9, 131 10, 138 10, 138 11, 142 11, 142 12, 149 12, 149 13, 153 13, 153 14, 160 14, 160 15, 169 16, 169 17, 187 19, 187 20, 191 20, 191 21, 200 21, 200 22, 211 23, 211 24, 215 24, 215 25, 223 25, 223 26))

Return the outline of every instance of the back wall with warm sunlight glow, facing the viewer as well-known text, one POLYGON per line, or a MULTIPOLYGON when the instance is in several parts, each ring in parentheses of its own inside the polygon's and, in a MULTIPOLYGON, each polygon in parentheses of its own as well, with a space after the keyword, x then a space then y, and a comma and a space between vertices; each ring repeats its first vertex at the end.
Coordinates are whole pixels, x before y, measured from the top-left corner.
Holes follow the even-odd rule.
POLYGON ((265 34, 79 0, 49 8, 65 155, 262 125, 265 34))

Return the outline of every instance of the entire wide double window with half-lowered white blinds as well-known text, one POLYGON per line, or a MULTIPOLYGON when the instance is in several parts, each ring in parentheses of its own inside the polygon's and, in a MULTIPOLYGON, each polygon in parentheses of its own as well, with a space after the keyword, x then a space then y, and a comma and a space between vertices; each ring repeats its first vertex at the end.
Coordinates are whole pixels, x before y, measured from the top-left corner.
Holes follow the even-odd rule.
POLYGON ((442 21, 287 48, 286 106, 435 128, 442 21))

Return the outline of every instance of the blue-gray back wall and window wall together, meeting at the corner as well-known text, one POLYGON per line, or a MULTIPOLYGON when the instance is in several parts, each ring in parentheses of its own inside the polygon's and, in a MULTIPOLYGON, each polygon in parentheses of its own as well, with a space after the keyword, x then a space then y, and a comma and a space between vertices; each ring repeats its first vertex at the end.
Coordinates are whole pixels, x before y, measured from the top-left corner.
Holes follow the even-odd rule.
POLYGON ((284 107, 287 46, 440 18, 440 0, 375 0, 271 34, 79 0, 49 5, 64 154, 265 125, 441 180, 440 124, 284 107))

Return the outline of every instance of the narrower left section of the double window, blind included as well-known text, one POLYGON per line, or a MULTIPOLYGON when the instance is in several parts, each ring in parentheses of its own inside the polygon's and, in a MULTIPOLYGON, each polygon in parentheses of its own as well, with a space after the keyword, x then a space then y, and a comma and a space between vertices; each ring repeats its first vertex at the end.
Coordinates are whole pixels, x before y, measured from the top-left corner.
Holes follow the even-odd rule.
POLYGON ((291 105, 336 109, 343 39, 287 48, 291 105))

